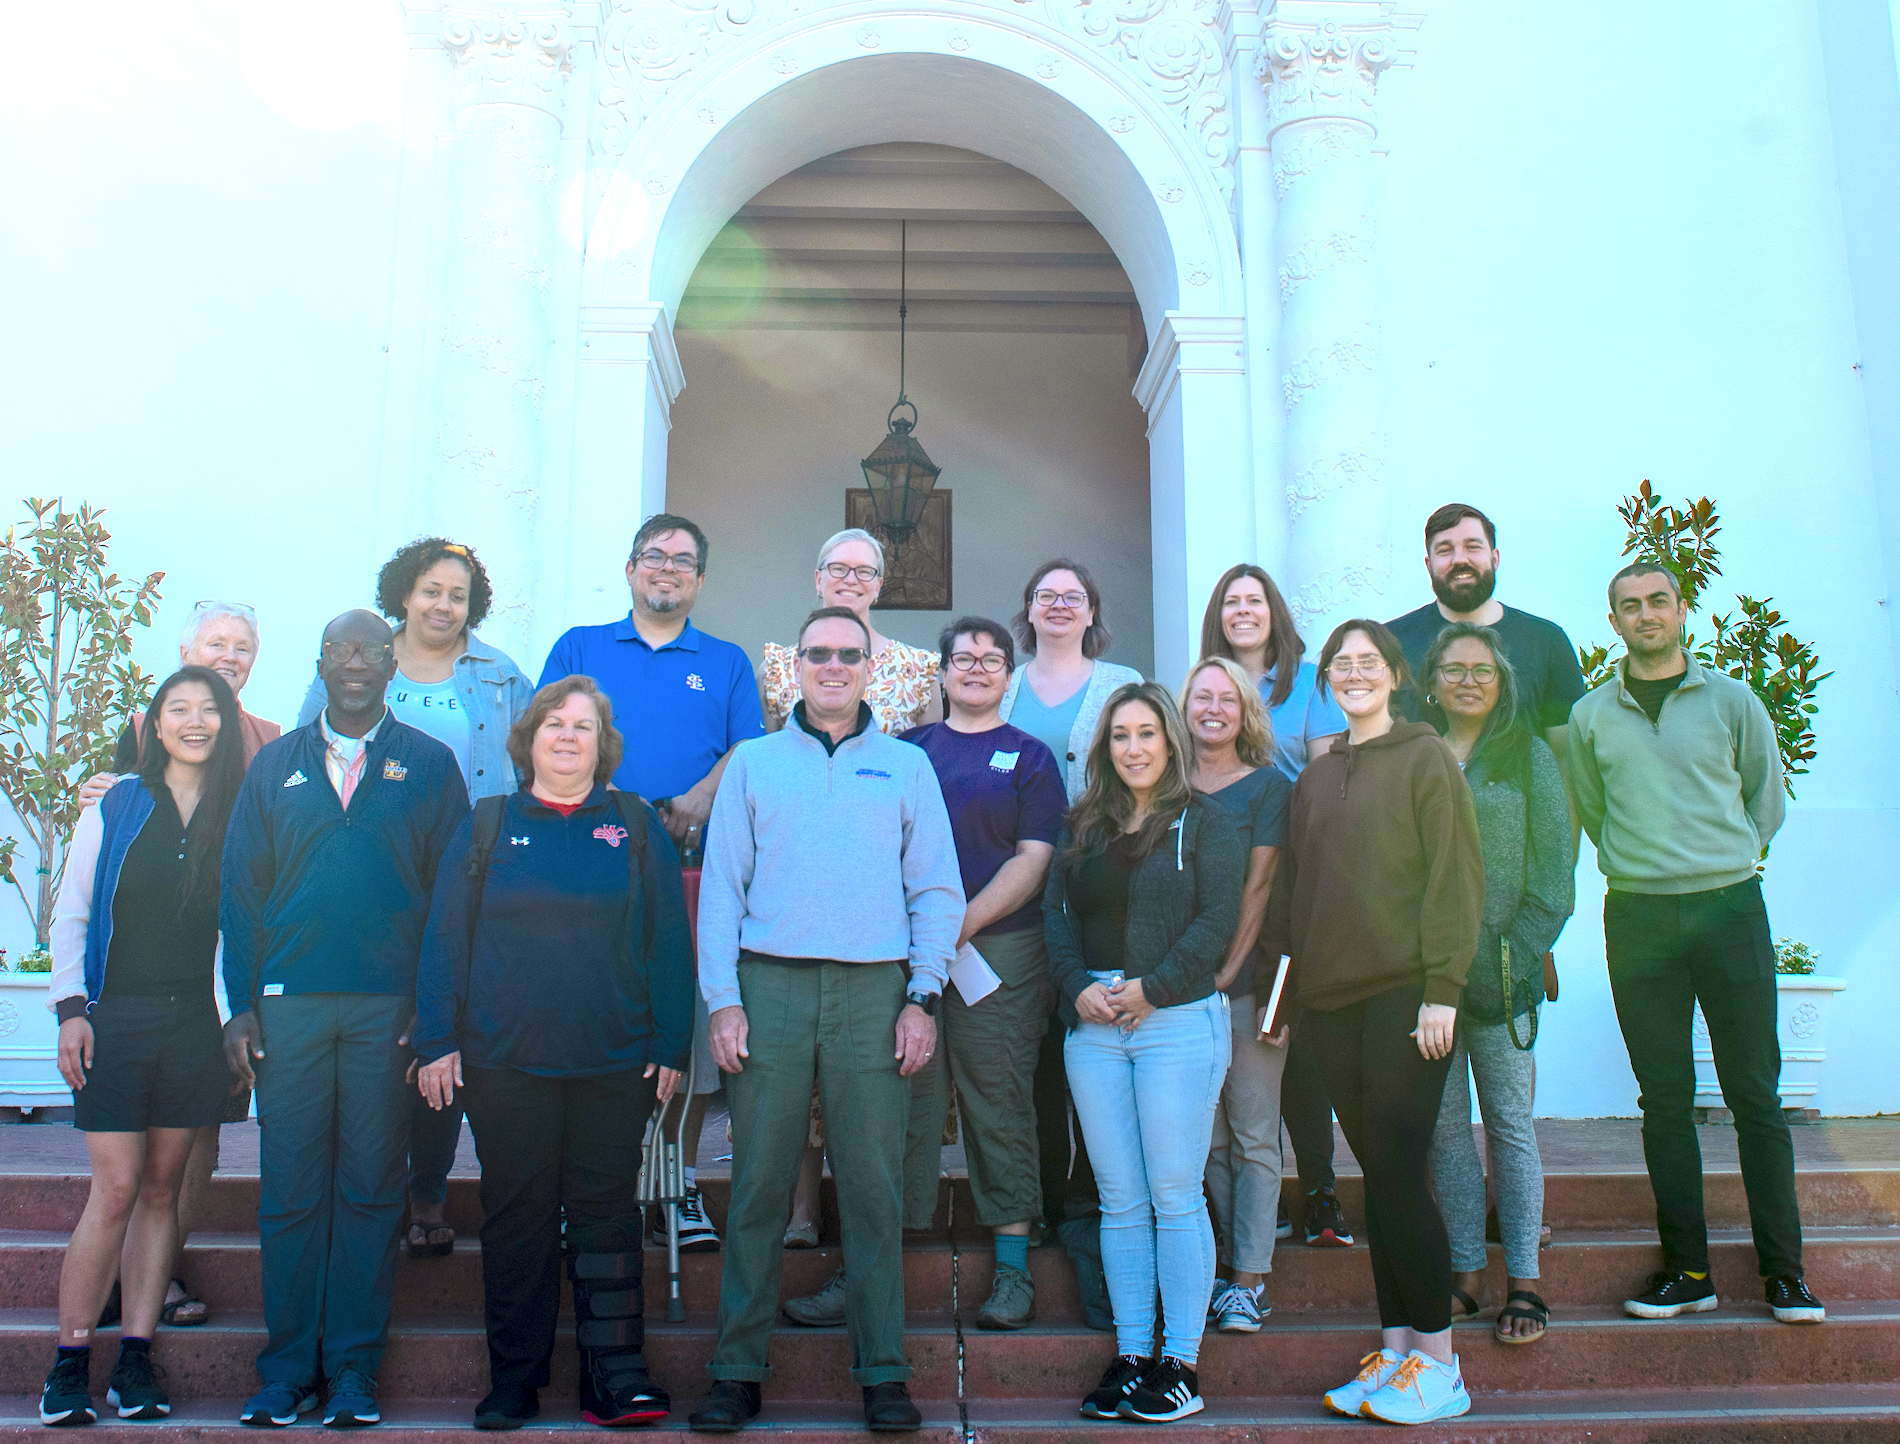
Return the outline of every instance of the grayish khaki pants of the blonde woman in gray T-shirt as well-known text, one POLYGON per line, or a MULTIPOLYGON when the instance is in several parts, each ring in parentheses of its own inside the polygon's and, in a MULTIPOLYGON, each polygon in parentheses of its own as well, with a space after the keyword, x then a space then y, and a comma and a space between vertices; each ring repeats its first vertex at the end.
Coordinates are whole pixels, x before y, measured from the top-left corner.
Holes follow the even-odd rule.
POLYGON ((1252 994, 1227 999, 1233 1062, 1214 1110, 1206 1155, 1206 1197, 1220 1227, 1220 1262, 1243 1273, 1273 1273, 1273 1227, 1281 1218, 1281 1074, 1286 1049, 1260 1041, 1252 994))

